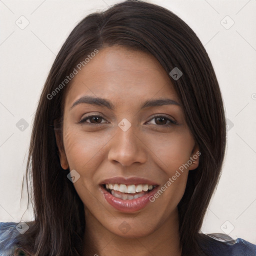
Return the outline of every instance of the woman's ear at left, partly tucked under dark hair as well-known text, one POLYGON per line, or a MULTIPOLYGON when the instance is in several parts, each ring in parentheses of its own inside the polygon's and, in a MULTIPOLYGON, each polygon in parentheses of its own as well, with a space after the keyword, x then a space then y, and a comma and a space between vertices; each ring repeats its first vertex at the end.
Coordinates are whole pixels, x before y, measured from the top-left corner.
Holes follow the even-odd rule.
POLYGON ((54 120, 54 133, 55 133, 55 138, 56 138, 56 143, 58 147, 58 156, 59 156, 59 161, 62 169, 66 170, 68 168, 68 162, 66 159, 66 154, 64 150, 64 145, 63 145, 63 139, 62 139, 62 129, 60 128, 59 123, 54 120))

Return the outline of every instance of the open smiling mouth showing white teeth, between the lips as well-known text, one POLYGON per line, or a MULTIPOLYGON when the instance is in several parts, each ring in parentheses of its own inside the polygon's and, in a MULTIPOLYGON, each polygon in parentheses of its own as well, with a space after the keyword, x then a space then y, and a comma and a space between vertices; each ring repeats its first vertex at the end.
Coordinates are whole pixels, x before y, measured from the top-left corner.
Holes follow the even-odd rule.
POLYGON ((102 184, 103 189, 105 189, 108 193, 116 198, 120 198, 122 200, 132 200, 139 198, 151 190, 153 190, 157 185, 149 185, 149 184, 102 184))

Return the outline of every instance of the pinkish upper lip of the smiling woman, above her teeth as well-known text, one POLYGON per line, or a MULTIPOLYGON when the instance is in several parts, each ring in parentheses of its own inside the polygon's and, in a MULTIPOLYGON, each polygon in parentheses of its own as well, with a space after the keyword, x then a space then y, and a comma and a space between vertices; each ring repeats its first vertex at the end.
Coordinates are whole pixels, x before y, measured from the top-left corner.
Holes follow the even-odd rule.
POLYGON ((155 181, 142 178, 142 177, 111 177, 106 178, 102 182, 100 182, 101 185, 103 184, 126 184, 126 185, 139 185, 139 184, 148 184, 148 185, 158 185, 155 181))

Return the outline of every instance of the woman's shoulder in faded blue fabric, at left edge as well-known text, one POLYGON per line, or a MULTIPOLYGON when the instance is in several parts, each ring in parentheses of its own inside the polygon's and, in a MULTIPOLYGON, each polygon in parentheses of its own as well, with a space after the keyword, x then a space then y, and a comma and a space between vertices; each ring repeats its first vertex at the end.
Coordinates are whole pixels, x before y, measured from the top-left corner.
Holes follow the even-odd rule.
MULTIPOLYGON (((19 252, 18 249, 18 235, 22 232, 18 230, 22 229, 22 224, 16 222, 0 222, 0 255, 1 256, 13 256, 19 252)), ((25 255, 25 254, 20 254, 25 255)))

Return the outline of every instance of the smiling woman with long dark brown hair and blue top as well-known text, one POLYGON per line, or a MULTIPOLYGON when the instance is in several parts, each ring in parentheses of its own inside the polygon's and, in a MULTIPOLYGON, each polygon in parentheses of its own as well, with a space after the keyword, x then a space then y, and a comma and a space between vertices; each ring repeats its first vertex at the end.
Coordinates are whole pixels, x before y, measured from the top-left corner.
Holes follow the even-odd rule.
POLYGON ((225 138, 216 76, 187 24, 133 0, 88 15, 35 114, 34 221, 1 223, 2 255, 256 255, 199 233, 225 138))

